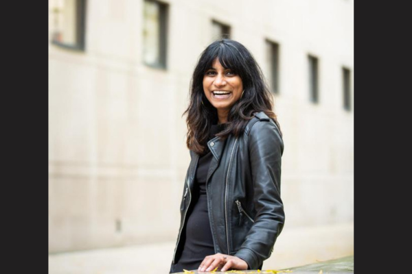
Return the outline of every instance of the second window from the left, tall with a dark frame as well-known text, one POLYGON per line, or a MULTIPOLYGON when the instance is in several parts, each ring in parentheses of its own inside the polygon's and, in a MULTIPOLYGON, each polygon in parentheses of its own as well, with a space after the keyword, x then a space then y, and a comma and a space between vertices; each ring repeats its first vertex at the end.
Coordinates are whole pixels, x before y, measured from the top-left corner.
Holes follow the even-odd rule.
POLYGON ((168 5, 144 1, 143 59, 148 66, 166 69, 168 5))

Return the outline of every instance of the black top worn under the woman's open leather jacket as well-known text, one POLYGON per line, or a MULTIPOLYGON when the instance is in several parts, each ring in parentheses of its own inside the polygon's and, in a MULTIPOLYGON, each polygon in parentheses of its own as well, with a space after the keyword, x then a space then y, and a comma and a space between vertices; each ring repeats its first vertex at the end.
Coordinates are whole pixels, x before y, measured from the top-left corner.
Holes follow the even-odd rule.
MULTIPOLYGON (((209 140, 215 134, 225 129, 225 124, 211 125, 209 140)), ((183 272, 183 269, 198 269, 206 256, 213 255, 214 245, 211 236, 209 214, 207 211, 206 179, 213 155, 206 145, 205 154, 198 160, 192 202, 187 210, 187 223, 183 227, 181 240, 184 242, 183 251, 176 252, 176 264, 172 265, 170 273, 183 272), (179 258, 179 255, 180 258, 179 258)))

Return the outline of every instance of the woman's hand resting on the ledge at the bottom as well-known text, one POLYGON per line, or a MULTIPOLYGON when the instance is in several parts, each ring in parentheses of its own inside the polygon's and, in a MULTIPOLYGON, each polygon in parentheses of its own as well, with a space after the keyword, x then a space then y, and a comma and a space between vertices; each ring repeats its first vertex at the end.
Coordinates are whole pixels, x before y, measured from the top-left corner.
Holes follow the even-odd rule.
POLYGON ((219 271, 227 271, 229 269, 247 270, 247 262, 236 257, 222 253, 216 253, 211 256, 206 256, 201 262, 198 271, 212 271, 218 268, 219 271), (222 266, 221 269, 220 266, 222 266))

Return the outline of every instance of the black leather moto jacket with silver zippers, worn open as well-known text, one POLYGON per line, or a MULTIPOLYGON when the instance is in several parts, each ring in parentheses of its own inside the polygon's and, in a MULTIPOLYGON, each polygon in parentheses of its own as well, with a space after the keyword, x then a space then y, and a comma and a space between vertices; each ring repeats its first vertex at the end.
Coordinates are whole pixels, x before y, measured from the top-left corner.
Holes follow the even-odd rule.
MULTIPOLYGON (((249 269, 262 269, 282 232, 285 214, 280 198, 282 137, 275 123, 259 112, 249 121, 244 134, 207 142, 213 158, 207 174, 207 208, 215 253, 241 258, 249 269)), ((191 162, 181 201, 179 242, 192 190, 198 154, 190 151, 191 162)))

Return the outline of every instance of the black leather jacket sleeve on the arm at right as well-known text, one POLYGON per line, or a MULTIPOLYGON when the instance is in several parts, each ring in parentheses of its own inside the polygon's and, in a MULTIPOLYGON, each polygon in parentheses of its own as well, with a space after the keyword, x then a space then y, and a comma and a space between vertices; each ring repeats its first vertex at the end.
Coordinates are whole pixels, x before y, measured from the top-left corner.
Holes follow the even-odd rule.
POLYGON ((284 206, 280 198, 284 144, 274 123, 258 121, 249 132, 248 147, 256 215, 235 256, 247 262, 249 269, 258 269, 271 256, 284 226, 284 206))

